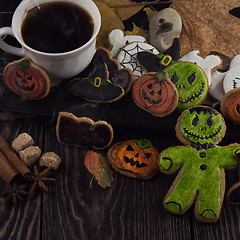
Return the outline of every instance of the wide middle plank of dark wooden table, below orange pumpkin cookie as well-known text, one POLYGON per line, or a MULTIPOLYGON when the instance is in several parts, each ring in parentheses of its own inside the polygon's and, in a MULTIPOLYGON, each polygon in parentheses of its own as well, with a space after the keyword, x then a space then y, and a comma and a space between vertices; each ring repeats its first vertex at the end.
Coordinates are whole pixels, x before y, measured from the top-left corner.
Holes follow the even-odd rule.
MULTIPOLYGON (((45 150, 51 146, 63 163, 56 173, 57 186, 49 188, 51 197, 44 195, 43 239, 190 239, 188 214, 178 221, 162 207, 172 177, 159 174, 146 181, 114 173, 111 188, 102 189, 96 180, 90 187, 92 175, 83 164, 86 150, 59 145, 51 124, 46 124, 45 132, 45 138, 51 139, 51 144, 45 142, 45 150), (51 217, 59 221, 47 221, 51 217)), ((153 139, 151 131, 133 132, 118 129, 114 141, 153 139)), ((167 144, 158 134, 154 140, 161 148, 167 144)))

